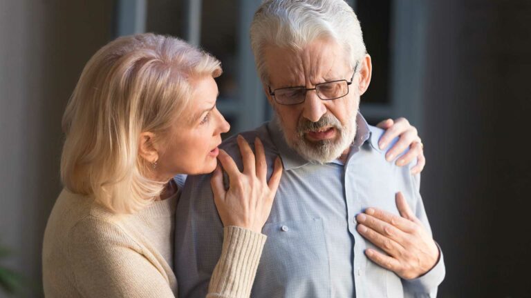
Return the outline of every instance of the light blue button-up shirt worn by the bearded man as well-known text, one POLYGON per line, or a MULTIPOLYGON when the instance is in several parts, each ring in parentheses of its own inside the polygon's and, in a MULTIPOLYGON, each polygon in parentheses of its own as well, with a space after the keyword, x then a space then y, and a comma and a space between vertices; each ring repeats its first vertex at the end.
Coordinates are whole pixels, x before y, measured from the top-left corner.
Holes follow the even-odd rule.
MULTIPOLYGON (((242 135, 259 137, 269 174, 280 155, 284 171, 271 215, 268 236, 252 288, 252 297, 436 297, 445 277, 441 253, 426 275, 400 279, 364 254, 375 248, 356 230, 355 216, 375 207, 398 215, 395 193, 401 191, 411 210, 429 224, 420 197, 420 177, 409 167, 385 160, 378 148, 383 130, 357 116, 357 135, 346 163, 309 163, 288 147, 277 121, 242 135)), ((241 168, 236 138, 221 146, 241 168)), ((212 270, 221 255, 223 224, 216 212, 210 175, 188 177, 176 215, 175 268, 179 297, 205 297, 212 270)), ((430 230, 431 232, 431 230, 430 230)))

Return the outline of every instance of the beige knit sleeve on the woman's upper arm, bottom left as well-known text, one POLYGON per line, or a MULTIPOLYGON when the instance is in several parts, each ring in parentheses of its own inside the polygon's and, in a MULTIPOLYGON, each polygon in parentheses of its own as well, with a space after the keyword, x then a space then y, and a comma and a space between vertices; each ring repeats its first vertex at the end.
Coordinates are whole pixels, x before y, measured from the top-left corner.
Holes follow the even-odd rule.
POLYGON ((167 278, 119 226, 88 217, 68 235, 68 255, 83 297, 167 297, 167 278))

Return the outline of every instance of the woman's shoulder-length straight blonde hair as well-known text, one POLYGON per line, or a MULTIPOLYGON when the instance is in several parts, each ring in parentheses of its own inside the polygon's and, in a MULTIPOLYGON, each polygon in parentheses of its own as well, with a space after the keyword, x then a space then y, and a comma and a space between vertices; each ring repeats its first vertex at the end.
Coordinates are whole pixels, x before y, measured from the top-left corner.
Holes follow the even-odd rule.
POLYGON ((174 37, 120 37, 86 63, 64 112, 61 178, 71 192, 130 213, 160 195, 138 155, 141 132, 165 133, 189 106, 191 77, 221 74, 220 62, 174 37))

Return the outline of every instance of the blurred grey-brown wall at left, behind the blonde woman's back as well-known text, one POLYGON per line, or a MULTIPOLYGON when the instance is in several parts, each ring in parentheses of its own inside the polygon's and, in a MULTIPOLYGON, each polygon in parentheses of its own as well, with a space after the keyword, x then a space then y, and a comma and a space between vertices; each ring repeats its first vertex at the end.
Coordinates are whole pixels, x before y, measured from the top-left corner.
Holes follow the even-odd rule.
POLYGON ((37 288, 28 297, 40 296, 42 235, 60 190, 62 112, 110 37, 111 12, 104 0, 0 0, 0 245, 37 288))

